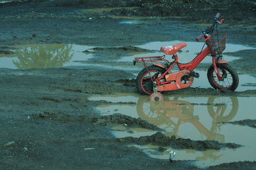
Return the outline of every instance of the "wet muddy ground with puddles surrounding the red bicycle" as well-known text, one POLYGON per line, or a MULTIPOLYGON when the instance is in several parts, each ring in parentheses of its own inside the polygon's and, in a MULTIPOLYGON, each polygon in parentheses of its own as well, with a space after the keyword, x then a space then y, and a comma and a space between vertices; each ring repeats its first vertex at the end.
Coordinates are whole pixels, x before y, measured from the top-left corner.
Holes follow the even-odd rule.
POLYGON ((125 2, 1 3, 0 169, 254 169, 253 18, 224 13, 220 27, 228 32, 223 56, 240 78, 236 92, 211 88, 205 59, 191 87, 150 103, 136 91, 143 66, 134 57, 186 41, 178 54, 188 62, 209 20, 151 16, 145 9, 159 4, 125 2))

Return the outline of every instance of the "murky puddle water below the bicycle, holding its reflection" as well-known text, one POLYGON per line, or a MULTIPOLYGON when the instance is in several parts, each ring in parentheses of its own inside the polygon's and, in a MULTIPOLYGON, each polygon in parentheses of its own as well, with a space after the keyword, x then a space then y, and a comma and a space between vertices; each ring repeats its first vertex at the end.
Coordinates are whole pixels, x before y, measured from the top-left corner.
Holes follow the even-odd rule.
MULTIPOLYGON (((102 115, 121 113, 141 118, 165 130, 166 136, 193 140, 216 140, 221 143, 244 145, 237 149, 221 150, 175 150, 175 160, 198 160, 197 166, 210 166, 223 162, 256 160, 256 129, 252 127, 223 124, 244 119, 256 119, 256 97, 170 97, 164 96, 163 103, 150 103, 148 96, 116 94, 113 96, 93 96, 90 100, 111 101, 112 104, 96 108, 102 115), (136 104, 115 104, 116 102, 136 104)), ((147 129, 129 129, 125 125, 113 128, 116 138, 140 137, 154 134, 147 129)), ((141 148, 143 152, 157 159, 168 159, 172 148, 159 152, 159 146, 129 145, 141 148)))

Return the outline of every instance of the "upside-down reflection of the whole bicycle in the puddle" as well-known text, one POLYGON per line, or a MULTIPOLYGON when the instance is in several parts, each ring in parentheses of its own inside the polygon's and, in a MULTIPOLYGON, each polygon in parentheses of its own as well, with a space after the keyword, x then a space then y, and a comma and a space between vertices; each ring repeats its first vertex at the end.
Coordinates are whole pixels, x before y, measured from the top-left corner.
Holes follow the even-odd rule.
MULTIPOLYGON (((140 97, 136 109, 141 119, 147 120, 151 124, 166 129, 166 136, 175 135, 176 138, 183 138, 177 133, 182 124, 192 124, 196 129, 204 134, 208 140, 215 140, 221 143, 225 142, 225 136, 220 134, 221 125, 217 122, 228 122, 237 114, 239 103, 237 97, 209 97, 207 103, 189 103, 188 101, 179 100, 179 97, 174 97, 170 100, 168 97, 164 101, 150 102, 148 97, 140 97), (200 122, 198 115, 194 115, 195 106, 205 106, 211 116, 211 127, 207 129, 200 122)), ((202 120, 201 120, 202 121, 202 120)), ((186 152, 196 152, 195 150, 187 150, 186 152)), ((197 160, 212 159, 216 160, 221 155, 216 155, 219 150, 207 150, 202 152, 202 157, 196 157, 197 160)), ((163 153, 164 154, 164 153, 163 153)), ((166 153, 167 154, 167 153, 166 153)))

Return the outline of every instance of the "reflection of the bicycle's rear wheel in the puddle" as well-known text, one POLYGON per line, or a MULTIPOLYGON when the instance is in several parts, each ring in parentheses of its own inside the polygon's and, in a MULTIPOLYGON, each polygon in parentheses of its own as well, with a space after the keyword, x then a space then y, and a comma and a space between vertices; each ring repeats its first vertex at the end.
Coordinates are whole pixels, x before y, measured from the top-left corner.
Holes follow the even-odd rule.
POLYGON ((159 107, 152 107, 152 104, 161 103, 150 102, 148 96, 141 96, 136 105, 136 110, 139 117, 143 120, 147 120, 151 124, 156 125, 165 122, 166 120, 164 120, 164 118, 159 115, 159 113, 163 113, 163 111, 157 110, 159 107))

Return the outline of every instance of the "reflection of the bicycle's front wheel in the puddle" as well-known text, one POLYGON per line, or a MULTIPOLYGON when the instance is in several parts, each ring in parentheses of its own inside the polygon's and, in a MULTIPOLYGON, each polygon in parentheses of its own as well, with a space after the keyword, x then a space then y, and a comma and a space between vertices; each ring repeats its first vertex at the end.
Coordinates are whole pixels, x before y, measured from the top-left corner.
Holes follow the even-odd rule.
POLYGON ((207 110, 216 122, 228 122, 237 114, 238 100, 237 97, 209 97, 207 110), (216 115, 218 114, 218 115, 216 115))

